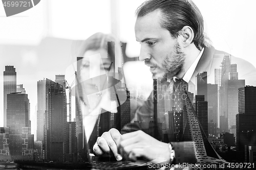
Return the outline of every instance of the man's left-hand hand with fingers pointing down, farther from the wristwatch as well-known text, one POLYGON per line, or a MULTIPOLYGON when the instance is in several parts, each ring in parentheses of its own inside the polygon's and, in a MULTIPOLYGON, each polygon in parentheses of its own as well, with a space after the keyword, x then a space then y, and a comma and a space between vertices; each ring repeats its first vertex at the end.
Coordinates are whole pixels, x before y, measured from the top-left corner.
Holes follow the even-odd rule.
POLYGON ((122 160, 122 156, 118 154, 118 146, 121 139, 121 134, 117 129, 110 129, 109 132, 104 132, 101 137, 97 138, 97 142, 93 146, 93 151, 97 155, 113 152, 116 160, 122 160))

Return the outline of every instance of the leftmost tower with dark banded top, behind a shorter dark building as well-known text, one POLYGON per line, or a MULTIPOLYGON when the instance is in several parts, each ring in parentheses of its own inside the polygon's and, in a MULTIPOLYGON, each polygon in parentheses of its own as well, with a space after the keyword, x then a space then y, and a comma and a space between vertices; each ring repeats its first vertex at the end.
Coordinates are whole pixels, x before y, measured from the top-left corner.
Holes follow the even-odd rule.
POLYGON ((5 66, 4 71, 4 126, 6 127, 7 94, 16 92, 16 71, 14 66, 5 66))

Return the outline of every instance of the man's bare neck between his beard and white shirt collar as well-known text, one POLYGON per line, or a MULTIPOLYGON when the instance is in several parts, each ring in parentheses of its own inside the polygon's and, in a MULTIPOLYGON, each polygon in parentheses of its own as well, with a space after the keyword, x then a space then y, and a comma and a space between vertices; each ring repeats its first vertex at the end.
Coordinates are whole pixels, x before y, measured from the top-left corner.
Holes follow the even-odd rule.
POLYGON ((176 76, 178 79, 182 79, 188 68, 194 63, 198 55, 200 54, 200 50, 196 47, 194 43, 190 44, 186 48, 183 48, 185 54, 185 61, 181 72, 176 76))

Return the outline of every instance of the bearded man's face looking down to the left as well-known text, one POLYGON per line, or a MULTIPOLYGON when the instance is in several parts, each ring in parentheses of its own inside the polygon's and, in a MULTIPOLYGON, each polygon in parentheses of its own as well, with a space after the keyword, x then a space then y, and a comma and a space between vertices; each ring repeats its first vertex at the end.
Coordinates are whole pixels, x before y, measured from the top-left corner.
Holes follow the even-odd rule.
POLYGON ((150 66, 153 79, 162 80, 167 75, 176 76, 183 67, 184 53, 177 39, 160 25, 160 11, 139 17, 135 23, 136 40, 140 42, 141 61, 150 66))

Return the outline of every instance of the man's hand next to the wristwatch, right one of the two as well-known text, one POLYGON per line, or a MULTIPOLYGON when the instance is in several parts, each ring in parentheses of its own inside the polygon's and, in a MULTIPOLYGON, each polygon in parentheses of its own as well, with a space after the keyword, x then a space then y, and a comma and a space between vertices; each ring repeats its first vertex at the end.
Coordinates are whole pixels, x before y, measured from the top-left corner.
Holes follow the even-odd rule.
POLYGON ((136 161, 144 158, 147 161, 162 159, 169 162, 168 143, 161 142, 143 131, 126 133, 121 136, 120 151, 125 158, 136 161))

